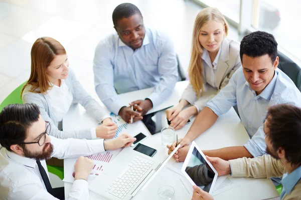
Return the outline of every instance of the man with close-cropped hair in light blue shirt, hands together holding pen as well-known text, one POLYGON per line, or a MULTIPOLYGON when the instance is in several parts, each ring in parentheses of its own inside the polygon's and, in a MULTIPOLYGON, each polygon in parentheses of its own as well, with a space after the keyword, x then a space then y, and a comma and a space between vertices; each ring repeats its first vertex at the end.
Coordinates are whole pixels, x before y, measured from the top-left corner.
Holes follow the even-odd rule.
POLYGON ((112 17, 117 33, 101 40, 95 50, 95 89, 110 111, 127 122, 131 115, 133 121, 140 120, 174 90, 178 79, 174 45, 167 35, 145 28, 141 12, 131 3, 118 5, 112 17), (137 111, 117 96, 148 87, 155 88, 146 99, 132 102, 137 111))

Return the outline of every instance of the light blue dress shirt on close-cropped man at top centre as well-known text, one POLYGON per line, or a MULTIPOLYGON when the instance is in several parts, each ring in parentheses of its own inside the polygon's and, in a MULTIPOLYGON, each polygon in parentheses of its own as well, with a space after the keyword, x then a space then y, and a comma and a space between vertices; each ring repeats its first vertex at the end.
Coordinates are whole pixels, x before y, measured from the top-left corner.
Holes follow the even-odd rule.
POLYGON ((95 49, 93 70, 96 93, 115 114, 122 106, 128 106, 117 93, 155 87, 147 97, 155 107, 171 95, 178 80, 172 40, 148 28, 142 46, 135 50, 125 45, 117 33, 100 41, 95 49))

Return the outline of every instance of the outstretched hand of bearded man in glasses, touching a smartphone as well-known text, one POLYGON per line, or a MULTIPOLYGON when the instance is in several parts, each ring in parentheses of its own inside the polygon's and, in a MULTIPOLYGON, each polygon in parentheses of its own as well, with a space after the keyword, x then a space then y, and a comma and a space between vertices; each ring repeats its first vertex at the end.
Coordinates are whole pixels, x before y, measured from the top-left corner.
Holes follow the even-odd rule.
POLYGON ((127 147, 136 140, 136 137, 132 137, 127 133, 122 133, 116 139, 105 140, 104 148, 106 150, 115 150, 118 148, 127 147))

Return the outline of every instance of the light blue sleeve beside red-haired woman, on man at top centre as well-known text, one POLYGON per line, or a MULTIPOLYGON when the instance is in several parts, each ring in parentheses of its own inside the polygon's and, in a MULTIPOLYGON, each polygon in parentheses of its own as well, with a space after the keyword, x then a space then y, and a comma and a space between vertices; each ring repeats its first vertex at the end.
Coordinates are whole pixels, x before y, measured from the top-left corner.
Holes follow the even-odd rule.
POLYGON ((114 88, 112 45, 107 38, 96 46, 93 60, 94 84, 100 100, 110 111, 118 114, 119 109, 126 105, 118 98, 114 88))

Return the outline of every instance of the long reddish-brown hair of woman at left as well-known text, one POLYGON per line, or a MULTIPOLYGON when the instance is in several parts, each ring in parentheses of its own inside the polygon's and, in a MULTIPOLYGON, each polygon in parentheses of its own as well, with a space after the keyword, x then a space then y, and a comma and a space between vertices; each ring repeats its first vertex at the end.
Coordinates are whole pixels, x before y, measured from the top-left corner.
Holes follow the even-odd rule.
POLYGON ((21 95, 28 85, 31 92, 45 93, 52 86, 46 70, 56 55, 66 54, 64 46, 52 37, 38 38, 31 49, 31 74, 22 88, 21 95), (37 90, 39 88, 39 90, 37 90))

